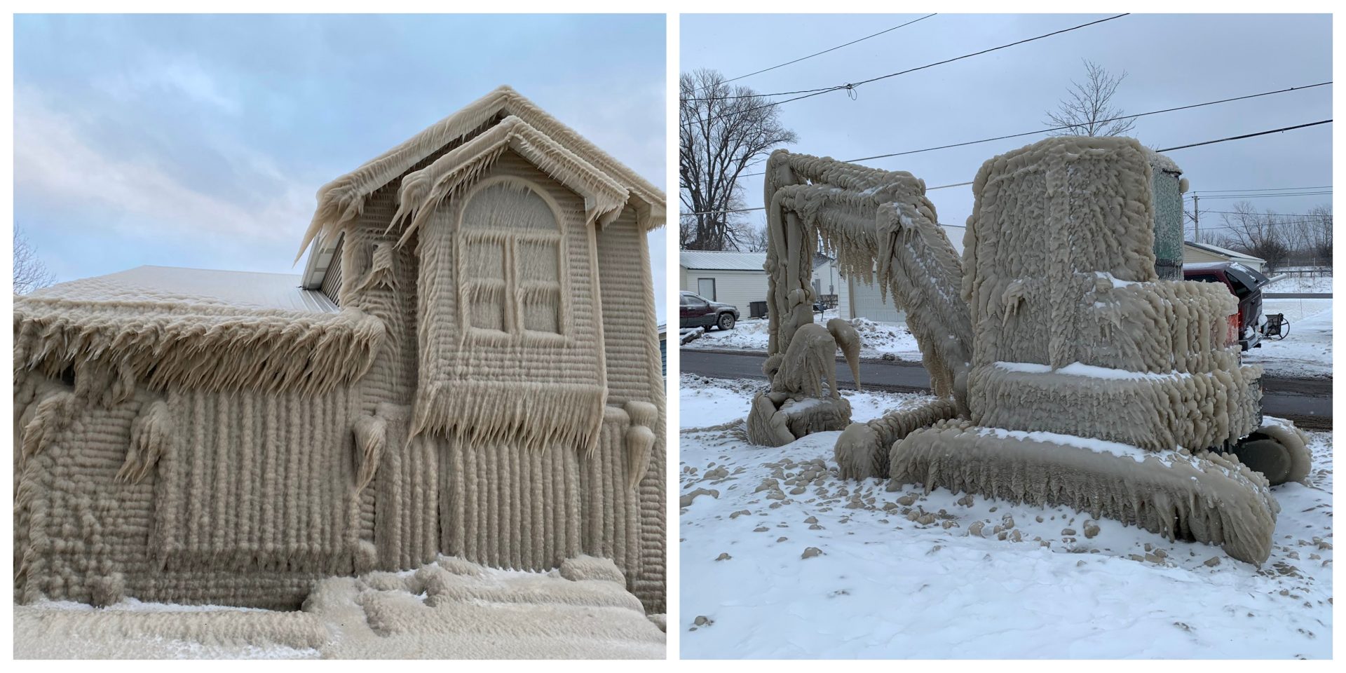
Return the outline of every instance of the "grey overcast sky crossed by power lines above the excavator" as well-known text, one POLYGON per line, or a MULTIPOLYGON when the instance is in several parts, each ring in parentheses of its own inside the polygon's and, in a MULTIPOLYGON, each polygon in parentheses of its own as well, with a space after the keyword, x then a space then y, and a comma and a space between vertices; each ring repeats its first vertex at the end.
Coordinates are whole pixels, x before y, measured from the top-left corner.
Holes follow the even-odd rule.
MULTIPOLYGON (((879 32, 922 15, 682 15, 680 70, 738 77, 879 32)), ((758 93, 817 89, 934 63, 1069 28, 1109 15, 938 15, 801 63, 734 83, 758 93)), ((1141 113, 1326 82, 1331 17, 1326 15, 1132 15, 845 92, 783 104, 781 121, 800 141, 787 149, 855 159, 1043 128, 1081 59, 1128 73, 1114 105, 1141 113)), ((1132 135, 1168 148, 1331 118, 1331 86, 1141 117, 1132 135)), ((1333 125, 1176 149, 1191 190, 1330 186, 1333 125)), ((970 182, 987 159, 1043 136, 864 162, 910 171, 929 187, 970 182)), ((760 168, 750 170, 758 172, 760 168)), ((760 206, 762 179, 743 182, 760 206)), ((1226 191, 1228 194, 1228 191, 1226 191)), ((929 192, 941 223, 962 225, 972 187, 929 192)), ((1259 198, 1277 213, 1303 213, 1330 195, 1259 198)), ((1236 199, 1201 201, 1202 229, 1236 199)), ((1190 206, 1189 206, 1190 210, 1190 206)), ((747 215, 760 226, 760 211, 747 215)), ((1189 225, 1190 229, 1190 225, 1189 225)), ((950 229, 961 238, 961 229, 950 229)), ((956 241, 961 244, 961 241, 956 241)))

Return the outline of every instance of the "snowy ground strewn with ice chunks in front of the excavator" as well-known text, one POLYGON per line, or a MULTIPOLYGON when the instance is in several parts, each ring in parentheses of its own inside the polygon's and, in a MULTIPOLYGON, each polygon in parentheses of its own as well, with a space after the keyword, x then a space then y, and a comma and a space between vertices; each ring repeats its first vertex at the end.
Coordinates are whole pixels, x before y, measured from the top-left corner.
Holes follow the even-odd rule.
MULTIPOLYGON (((736 419, 760 382, 681 384, 684 658, 1333 654, 1330 433, 1311 433, 1310 483, 1276 487, 1259 569, 1069 509, 843 481, 836 432, 747 444, 736 419)), ((845 394, 855 420, 921 400, 845 394)))

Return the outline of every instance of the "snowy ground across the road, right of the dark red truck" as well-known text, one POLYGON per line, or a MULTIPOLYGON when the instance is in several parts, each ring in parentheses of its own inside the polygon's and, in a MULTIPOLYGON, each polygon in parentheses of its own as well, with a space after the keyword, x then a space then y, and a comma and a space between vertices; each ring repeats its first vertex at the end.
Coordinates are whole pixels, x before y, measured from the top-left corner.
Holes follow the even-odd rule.
POLYGON ((1263 314, 1284 314, 1289 335, 1264 339, 1260 349, 1244 353, 1244 362, 1261 365, 1268 376, 1333 376, 1331 299, 1263 299, 1263 314))

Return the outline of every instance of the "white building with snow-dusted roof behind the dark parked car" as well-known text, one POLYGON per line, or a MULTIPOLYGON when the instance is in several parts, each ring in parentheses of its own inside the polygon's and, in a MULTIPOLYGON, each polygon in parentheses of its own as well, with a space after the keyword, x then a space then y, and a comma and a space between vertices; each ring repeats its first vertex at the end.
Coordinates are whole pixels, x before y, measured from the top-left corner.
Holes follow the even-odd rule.
MULTIPOLYGON (((752 302, 766 302, 765 252, 680 250, 678 285, 712 302, 739 307, 751 316, 752 302)), ((813 291, 837 295, 841 318, 851 318, 851 289, 836 261, 825 254, 813 260, 813 291)))

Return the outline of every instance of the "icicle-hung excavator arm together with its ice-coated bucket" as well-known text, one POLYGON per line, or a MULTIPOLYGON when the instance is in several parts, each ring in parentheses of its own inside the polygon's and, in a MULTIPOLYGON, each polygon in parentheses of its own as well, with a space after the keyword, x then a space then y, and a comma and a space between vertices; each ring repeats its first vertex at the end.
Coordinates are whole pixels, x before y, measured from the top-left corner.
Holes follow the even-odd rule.
MULTIPOLYGON (((859 385, 855 330, 844 320, 829 320, 832 350, 824 358, 821 334, 810 327, 814 296, 809 279, 821 244, 836 254, 845 273, 871 280, 878 276, 883 292, 891 292, 907 308, 907 322, 922 345, 935 392, 965 405, 970 361, 966 339, 972 330, 958 300, 961 268, 935 225, 925 183, 911 174, 779 149, 767 160, 765 197, 771 390, 789 392, 794 398, 817 397, 816 382, 835 371, 837 346, 859 385), (795 345, 801 335, 808 346, 795 345)), ((794 411, 789 420, 773 419, 781 404, 763 396, 754 400, 748 415, 751 441, 779 446, 802 436, 786 435, 789 427, 841 429, 849 420, 837 405, 812 405, 794 411), (809 415, 817 417, 806 419, 809 415)))

